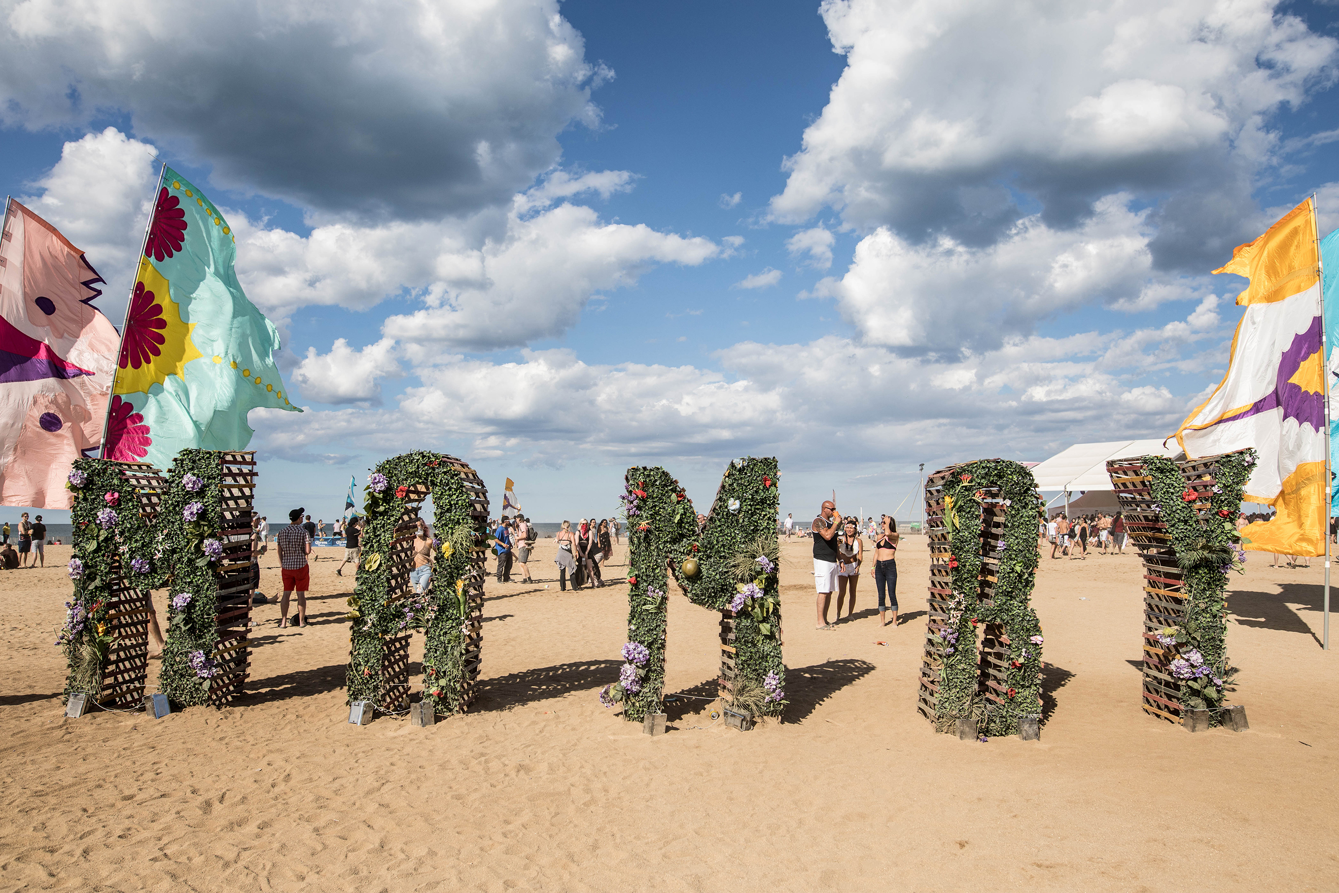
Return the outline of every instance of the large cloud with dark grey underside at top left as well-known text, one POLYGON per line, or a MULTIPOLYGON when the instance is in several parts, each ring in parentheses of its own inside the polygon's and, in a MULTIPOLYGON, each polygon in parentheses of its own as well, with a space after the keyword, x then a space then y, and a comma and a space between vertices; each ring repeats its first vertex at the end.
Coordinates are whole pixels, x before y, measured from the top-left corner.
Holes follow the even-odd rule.
POLYGON ((557 0, 0 0, 0 120, 129 112, 212 182, 372 218, 506 205, 599 126, 557 0))

